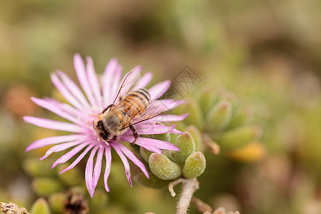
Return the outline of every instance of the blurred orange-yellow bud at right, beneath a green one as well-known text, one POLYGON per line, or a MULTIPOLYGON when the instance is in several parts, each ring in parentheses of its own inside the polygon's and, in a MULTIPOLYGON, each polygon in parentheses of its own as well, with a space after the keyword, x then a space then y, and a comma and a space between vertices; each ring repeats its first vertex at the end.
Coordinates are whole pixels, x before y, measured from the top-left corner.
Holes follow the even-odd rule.
POLYGON ((262 160, 266 155, 266 149, 262 143, 253 141, 247 145, 228 152, 228 156, 243 162, 257 162, 262 160))

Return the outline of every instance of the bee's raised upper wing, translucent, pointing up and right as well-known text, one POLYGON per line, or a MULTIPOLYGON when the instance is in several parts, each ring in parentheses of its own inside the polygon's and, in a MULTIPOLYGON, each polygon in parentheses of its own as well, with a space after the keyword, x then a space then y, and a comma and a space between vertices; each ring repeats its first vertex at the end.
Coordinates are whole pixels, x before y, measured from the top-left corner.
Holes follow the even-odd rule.
POLYGON ((135 83, 138 78, 140 78, 139 73, 139 70, 134 69, 128 72, 128 74, 123 78, 121 87, 119 88, 116 98, 113 101, 111 108, 109 108, 109 111, 112 111, 116 106, 118 106, 118 104, 120 103, 120 98, 125 98, 127 96, 129 90, 133 87, 133 83, 135 83))

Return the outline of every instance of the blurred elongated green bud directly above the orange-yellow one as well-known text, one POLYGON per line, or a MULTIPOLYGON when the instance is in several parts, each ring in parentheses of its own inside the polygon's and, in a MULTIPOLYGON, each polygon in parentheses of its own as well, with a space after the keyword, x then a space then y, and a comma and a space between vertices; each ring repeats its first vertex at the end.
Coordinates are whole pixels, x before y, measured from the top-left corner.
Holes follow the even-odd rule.
POLYGON ((217 142, 223 149, 235 149, 260 138, 261 135, 262 131, 258 126, 243 126, 223 133, 217 142))

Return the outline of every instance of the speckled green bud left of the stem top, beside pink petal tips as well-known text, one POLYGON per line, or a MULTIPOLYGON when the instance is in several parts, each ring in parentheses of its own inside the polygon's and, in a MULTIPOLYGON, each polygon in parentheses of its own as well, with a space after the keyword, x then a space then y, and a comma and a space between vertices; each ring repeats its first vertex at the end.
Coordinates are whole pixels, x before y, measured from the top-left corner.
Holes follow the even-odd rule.
POLYGON ((153 153, 148 163, 152 173, 162 180, 173 180, 181 174, 180 165, 170 161, 164 155, 153 153))

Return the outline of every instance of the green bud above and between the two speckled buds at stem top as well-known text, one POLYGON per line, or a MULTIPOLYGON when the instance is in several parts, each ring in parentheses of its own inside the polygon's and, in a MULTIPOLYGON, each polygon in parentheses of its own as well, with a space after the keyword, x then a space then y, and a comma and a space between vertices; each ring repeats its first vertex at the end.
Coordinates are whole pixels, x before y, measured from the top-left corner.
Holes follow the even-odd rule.
POLYGON ((171 159, 175 161, 175 163, 185 163, 186 158, 195 152, 194 139, 187 131, 178 136, 175 145, 180 149, 180 151, 173 151, 171 153, 171 159))

